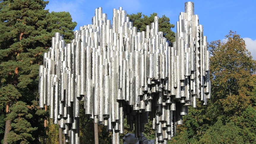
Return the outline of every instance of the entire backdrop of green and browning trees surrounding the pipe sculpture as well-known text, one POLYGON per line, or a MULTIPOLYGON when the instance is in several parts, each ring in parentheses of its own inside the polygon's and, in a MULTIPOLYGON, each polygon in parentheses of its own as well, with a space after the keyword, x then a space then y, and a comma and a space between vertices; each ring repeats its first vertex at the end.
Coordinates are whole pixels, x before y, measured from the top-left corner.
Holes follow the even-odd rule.
MULTIPOLYGON (((46 4, 43 0, 0 1, 0 142, 4 144, 59 143, 58 125, 38 106, 38 69, 54 33, 61 33, 68 43, 76 22, 69 12, 48 12, 46 4)), ((138 31, 145 31, 156 15, 128 16, 138 31)), ((165 15, 160 17, 159 31, 172 45, 175 33, 169 21, 165 15)), ((169 143, 256 143, 256 62, 239 34, 227 31, 225 37, 224 42, 208 45, 212 86, 208 105, 189 107, 169 143)), ((80 114, 80 142, 94 143, 93 121, 80 114)), ((98 131, 99 143, 111 143, 111 133, 104 126, 99 125, 98 131)), ((125 126, 127 132, 133 130, 125 126)), ((151 122, 145 125, 148 140, 154 139, 154 132, 151 122)))

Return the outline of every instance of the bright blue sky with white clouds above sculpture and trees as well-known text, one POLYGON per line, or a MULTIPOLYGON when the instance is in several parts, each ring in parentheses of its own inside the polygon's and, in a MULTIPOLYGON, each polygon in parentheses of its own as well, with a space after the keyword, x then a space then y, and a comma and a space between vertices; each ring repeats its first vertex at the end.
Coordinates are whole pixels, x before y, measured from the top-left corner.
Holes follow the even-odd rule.
MULTIPOLYGON (((170 18, 176 24, 180 12, 184 12, 184 0, 49 0, 46 9, 49 11, 69 12, 73 21, 80 26, 91 24, 94 10, 102 7, 112 22, 113 9, 123 7, 127 14, 142 12, 150 15, 153 12, 159 17, 170 18)), ((204 35, 211 42, 224 39, 230 30, 236 31, 246 42, 246 48, 256 60, 256 1, 255 0, 195 0, 195 14, 204 27, 204 35)), ((176 27, 172 29, 176 32, 176 27)))

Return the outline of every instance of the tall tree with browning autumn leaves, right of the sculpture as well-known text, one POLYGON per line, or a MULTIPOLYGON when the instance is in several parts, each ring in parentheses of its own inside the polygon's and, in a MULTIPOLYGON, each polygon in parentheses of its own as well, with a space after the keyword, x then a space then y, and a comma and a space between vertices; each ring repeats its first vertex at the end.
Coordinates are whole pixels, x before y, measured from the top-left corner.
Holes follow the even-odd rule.
MULTIPOLYGON (((210 72, 212 74, 212 104, 214 119, 236 120, 251 103, 255 61, 245 48, 245 42, 230 31, 226 42, 211 42, 210 72)), ((209 113, 209 115, 212 115, 209 113)))

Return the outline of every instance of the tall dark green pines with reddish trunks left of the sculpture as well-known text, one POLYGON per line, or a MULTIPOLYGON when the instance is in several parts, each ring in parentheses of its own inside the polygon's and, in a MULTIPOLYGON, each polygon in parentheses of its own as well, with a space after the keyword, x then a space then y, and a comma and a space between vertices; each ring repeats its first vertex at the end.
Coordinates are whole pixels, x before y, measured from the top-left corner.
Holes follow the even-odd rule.
POLYGON ((43 0, 0 2, 0 105, 7 115, 3 143, 7 143, 7 137, 10 137, 8 143, 21 143, 25 139, 24 143, 36 143, 42 136, 37 132, 43 131, 40 124, 43 124, 45 112, 39 109, 36 101, 42 54, 51 46, 51 37, 55 32, 61 32, 64 38, 71 39, 76 26, 68 12, 49 13, 44 10, 46 4, 48 1, 43 0), (14 109, 21 103, 19 106, 23 109, 27 107, 31 116, 30 120, 26 120, 27 132, 31 136, 15 130, 19 126, 16 125, 18 121, 10 117, 20 113, 14 112, 14 109), (15 134, 22 140, 12 139, 15 134))

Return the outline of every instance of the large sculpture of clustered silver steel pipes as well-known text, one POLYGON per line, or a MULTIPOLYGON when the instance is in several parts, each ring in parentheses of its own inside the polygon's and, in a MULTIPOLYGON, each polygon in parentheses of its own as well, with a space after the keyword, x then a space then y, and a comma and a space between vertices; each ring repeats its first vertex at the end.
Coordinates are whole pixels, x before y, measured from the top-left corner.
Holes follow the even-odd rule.
POLYGON ((71 43, 55 33, 39 67, 39 106, 50 106, 67 142, 79 143, 80 101, 94 123, 112 132, 112 143, 124 133, 124 118, 139 139, 149 118, 156 142, 166 143, 189 105, 196 107, 197 98, 207 104, 209 51, 194 3, 186 2, 179 15, 173 47, 158 20, 137 32, 121 7, 113 9, 112 25, 99 7, 71 43))

